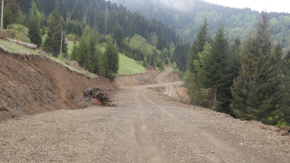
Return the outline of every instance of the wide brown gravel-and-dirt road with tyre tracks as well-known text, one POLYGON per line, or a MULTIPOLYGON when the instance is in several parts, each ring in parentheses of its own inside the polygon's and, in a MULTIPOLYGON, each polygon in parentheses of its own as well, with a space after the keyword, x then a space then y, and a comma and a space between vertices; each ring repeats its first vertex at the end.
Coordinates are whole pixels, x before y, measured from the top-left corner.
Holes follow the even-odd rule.
POLYGON ((274 127, 146 89, 172 84, 122 87, 119 107, 1 123, 0 162, 290 162, 290 138, 274 127))

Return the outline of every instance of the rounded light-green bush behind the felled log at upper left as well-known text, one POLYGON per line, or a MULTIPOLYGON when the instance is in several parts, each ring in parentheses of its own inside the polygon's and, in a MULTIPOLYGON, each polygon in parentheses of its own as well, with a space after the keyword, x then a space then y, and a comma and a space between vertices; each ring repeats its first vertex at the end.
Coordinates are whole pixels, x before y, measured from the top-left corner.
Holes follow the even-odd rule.
POLYGON ((10 24, 7 26, 7 33, 10 35, 11 39, 16 39, 18 41, 30 43, 28 38, 28 28, 20 24, 10 24))

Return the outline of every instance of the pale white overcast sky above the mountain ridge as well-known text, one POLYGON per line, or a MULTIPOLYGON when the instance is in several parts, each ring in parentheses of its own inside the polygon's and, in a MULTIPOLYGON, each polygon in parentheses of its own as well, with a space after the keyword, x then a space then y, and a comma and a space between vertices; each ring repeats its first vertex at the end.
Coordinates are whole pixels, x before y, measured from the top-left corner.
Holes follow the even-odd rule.
POLYGON ((290 0, 205 0, 222 6, 251 8, 252 10, 262 11, 266 7, 267 12, 289 12, 290 0))

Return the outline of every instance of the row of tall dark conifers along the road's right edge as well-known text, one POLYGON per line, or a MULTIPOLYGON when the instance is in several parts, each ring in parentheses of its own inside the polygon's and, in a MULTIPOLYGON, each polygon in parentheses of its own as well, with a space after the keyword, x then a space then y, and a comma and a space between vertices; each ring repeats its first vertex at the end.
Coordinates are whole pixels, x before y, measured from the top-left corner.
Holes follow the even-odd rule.
POLYGON ((245 41, 229 43, 225 23, 214 37, 204 18, 189 52, 185 80, 192 102, 236 118, 290 124, 290 51, 271 40, 267 12, 245 41))

